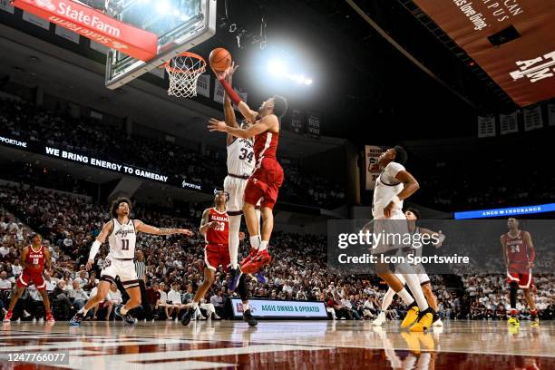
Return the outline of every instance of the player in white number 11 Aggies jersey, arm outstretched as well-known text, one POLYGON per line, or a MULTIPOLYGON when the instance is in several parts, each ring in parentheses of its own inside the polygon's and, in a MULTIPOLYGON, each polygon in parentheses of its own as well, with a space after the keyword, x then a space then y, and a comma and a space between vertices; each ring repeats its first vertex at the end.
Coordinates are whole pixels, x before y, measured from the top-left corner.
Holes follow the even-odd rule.
POLYGON ((110 213, 112 220, 106 222, 102 227, 102 231, 93 242, 93 247, 89 253, 89 261, 87 262, 87 270, 93 267, 94 258, 102 246, 102 243, 108 238, 110 245, 110 253, 104 261, 101 272, 101 281, 98 284, 98 291, 94 297, 91 297, 87 304, 81 308, 75 316, 70 320, 70 325, 78 326, 87 315, 87 311, 98 305, 108 294, 108 290, 115 278, 120 277, 125 291, 129 295, 129 300, 125 306, 116 309, 115 313, 121 316, 128 324, 135 324, 137 319, 129 314, 129 310, 141 305, 141 289, 139 287, 139 279, 133 264, 135 256, 135 243, 137 240, 137 232, 154 235, 170 235, 185 234, 192 236, 193 232, 188 229, 163 229, 147 225, 138 219, 131 219, 131 200, 127 198, 119 198, 112 202, 110 213))

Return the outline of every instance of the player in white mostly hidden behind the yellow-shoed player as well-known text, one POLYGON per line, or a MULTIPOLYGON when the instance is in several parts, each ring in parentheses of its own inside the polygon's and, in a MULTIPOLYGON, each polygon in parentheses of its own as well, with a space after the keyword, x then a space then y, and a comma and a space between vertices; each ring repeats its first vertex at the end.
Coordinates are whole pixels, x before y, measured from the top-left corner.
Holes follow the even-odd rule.
MULTIPOLYGON (((424 229, 416 226, 416 219, 420 219, 420 212, 417 209, 406 209, 404 211, 404 216, 407 219, 408 229, 411 234, 431 236, 435 235, 439 241, 436 244, 433 244, 433 246, 435 248, 440 248, 442 246, 445 236, 441 233, 441 231, 435 232, 430 229, 424 229)), ((411 249, 411 253, 414 253, 415 257, 422 257, 422 248, 413 248, 411 249)), ((426 274, 424 266, 419 263, 418 265, 414 266, 414 270, 414 273, 418 277, 418 281, 420 283, 420 286, 422 287, 422 291, 424 292, 424 296, 426 297, 428 304, 430 305, 430 307, 433 308, 434 311, 437 312, 437 299, 433 294, 432 283, 430 282, 430 277, 428 277, 428 274, 426 274)), ((395 277, 397 277, 401 281, 401 283, 405 283, 402 274, 395 274, 395 277)), ((389 289, 387 289, 387 292, 385 293, 385 296, 382 300, 382 312, 380 312, 380 314, 375 318, 375 320, 372 322, 372 325, 381 326, 382 324, 384 324, 385 311, 387 311, 387 308, 389 308, 389 306, 391 305, 394 295, 395 291, 393 288, 390 287, 389 289)), ((434 316, 434 320, 435 321, 433 322, 433 326, 443 326, 442 320, 439 317, 434 316)))

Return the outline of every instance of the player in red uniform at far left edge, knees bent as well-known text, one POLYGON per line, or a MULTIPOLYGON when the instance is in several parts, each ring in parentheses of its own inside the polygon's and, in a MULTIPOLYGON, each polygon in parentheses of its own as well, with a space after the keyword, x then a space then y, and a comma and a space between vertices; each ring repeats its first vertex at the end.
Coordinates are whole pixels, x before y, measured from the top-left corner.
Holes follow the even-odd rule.
MULTIPOLYGON (((46 294, 46 284, 44 283, 44 268, 48 271, 52 268, 50 261, 50 252, 43 246, 43 237, 41 234, 34 234, 31 238, 32 244, 25 247, 21 253, 21 266, 24 268, 19 277, 17 277, 17 291, 10 301, 8 312, 5 314, 4 322, 9 323, 12 320, 12 311, 15 304, 23 294, 25 287, 34 284, 36 290, 43 297, 44 310, 46 312, 46 321, 54 322, 50 301, 46 294)), ((52 275, 52 273, 50 274, 52 275)))

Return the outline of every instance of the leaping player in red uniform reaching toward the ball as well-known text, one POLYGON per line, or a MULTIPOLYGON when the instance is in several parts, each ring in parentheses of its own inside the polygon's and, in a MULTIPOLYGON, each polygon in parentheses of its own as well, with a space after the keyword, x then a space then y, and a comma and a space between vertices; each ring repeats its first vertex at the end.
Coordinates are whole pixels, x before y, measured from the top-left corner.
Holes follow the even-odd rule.
POLYGON ((277 142, 279 137, 280 120, 287 112, 287 101, 284 97, 274 95, 263 102, 258 112, 248 108, 246 102, 241 101, 238 93, 226 81, 226 72, 217 72, 219 83, 223 86, 229 99, 238 108, 239 112, 252 126, 247 129, 230 127, 226 122, 214 118, 209 121, 209 131, 222 131, 239 138, 255 138, 254 152, 256 167, 250 176, 245 188, 243 214, 247 222, 250 236, 250 258, 241 264, 241 270, 246 273, 257 272, 262 266, 268 265, 271 258, 268 254, 268 242, 274 229, 274 216, 272 209, 277 201, 277 191, 283 183, 283 169, 276 159, 277 142), (260 201, 262 215, 262 231, 258 235, 258 218, 255 205, 260 201))

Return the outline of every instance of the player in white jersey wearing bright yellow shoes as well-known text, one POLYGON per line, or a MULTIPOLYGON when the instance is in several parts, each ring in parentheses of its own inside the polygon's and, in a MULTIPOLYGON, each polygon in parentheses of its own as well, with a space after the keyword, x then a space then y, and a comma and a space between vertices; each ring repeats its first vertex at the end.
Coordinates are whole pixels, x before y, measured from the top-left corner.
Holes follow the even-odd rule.
MULTIPOLYGON (((403 236, 409 234, 403 213, 403 200, 413 195, 414 191, 420 187, 414 176, 404 169, 403 164, 406 159, 406 151, 401 146, 388 149, 378 158, 378 165, 382 172, 375 181, 374 199, 372 201, 374 234, 401 236, 401 238, 394 238, 394 240, 403 240, 403 236)), ((391 242, 388 238, 380 240, 373 246, 373 253, 376 255, 394 255, 399 249, 409 247, 403 244, 395 244, 395 241, 391 242)), ((400 264, 396 269, 404 276, 406 284, 411 289, 414 297, 408 293, 404 284, 390 270, 389 264, 376 263, 378 276, 382 277, 387 285, 394 289, 408 307, 401 327, 411 326, 411 331, 424 331, 432 326, 435 311, 428 306, 414 269, 408 264, 400 264)))

